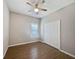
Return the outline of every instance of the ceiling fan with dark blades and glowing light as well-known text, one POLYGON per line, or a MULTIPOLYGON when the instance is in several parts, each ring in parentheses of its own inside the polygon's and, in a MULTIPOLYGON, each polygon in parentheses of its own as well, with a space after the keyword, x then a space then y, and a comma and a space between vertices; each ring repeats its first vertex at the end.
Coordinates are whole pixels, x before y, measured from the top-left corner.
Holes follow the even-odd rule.
MULTIPOLYGON (((39 13, 39 11, 47 11, 47 9, 43 9, 43 8, 40 8, 39 7, 39 3, 40 1, 38 0, 38 2, 36 3, 36 4, 32 4, 32 3, 30 3, 30 2, 26 2, 26 4, 28 4, 28 5, 30 5, 31 7, 33 7, 33 10, 34 10, 34 12, 36 13, 36 14, 38 14, 39 13)), ((45 0, 42 0, 42 2, 41 2, 42 4, 43 3, 45 3, 45 0)))

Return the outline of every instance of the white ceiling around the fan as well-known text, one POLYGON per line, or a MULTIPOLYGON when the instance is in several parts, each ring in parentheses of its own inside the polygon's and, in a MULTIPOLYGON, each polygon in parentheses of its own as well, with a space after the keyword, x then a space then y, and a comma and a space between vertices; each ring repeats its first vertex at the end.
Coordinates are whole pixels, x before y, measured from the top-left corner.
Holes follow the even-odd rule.
POLYGON ((74 3, 74 0, 45 0, 44 5, 41 7, 46 8, 47 11, 40 11, 40 13, 37 15, 34 12, 28 12, 29 10, 32 10, 32 7, 27 5, 25 3, 26 1, 33 2, 36 0, 6 0, 10 11, 37 18, 46 16, 54 11, 59 10, 60 8, 63 8, 71 3, 74 3))

